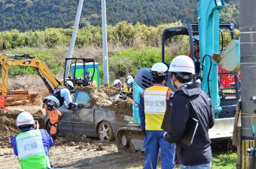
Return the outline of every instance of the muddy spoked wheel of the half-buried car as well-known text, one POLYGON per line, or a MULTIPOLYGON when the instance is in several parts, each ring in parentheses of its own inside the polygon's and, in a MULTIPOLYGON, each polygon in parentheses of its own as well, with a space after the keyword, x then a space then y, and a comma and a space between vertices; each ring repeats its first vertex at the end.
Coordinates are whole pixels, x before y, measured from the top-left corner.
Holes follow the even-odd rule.
POLYGON ((111 125, 108 122, 101 122, 98 128, 98 136, 100 140, 112 141, 114 140, 114 132, 111 125))

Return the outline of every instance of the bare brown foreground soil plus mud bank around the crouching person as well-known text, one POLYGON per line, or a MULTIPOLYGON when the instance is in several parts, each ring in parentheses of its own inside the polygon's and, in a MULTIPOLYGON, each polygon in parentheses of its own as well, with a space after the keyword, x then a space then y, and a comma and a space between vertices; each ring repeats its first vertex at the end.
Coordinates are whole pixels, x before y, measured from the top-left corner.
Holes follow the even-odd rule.
MULTIPOLYGON (((8 113, 0 114, 0 168, 20 168, 12 147, 8 146, 9 137, 18 134, 16 117, 21 111, 29 111, 39 124, 44 124, 45 111, 41 106, 34 105, 7 108, 8 113)), ((50 160, 57 168, 141 168, 144 154, 120 153, 115 142, 99 141, 84 135, 61 134, 50 149, 50 160)))

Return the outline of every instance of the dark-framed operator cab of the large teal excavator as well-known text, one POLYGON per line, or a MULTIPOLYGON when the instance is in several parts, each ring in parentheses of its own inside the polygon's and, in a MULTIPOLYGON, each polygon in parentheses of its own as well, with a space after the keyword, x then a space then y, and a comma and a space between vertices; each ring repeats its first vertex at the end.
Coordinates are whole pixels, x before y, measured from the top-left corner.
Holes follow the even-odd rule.
MULTIPOLYGON (((220 49, 219 51, 223 51, 227 44, 234 39, 234 26, 231 23, 228 24, 220 24, 220 49)), ((180 26, 167 27, 163 31, 162 37, 162 62, 165 61, 165 47, 172 46, 174 42, 177 43, 177 40, 181 40, 183 43, 186 43, 189 46, 187 53, 177 53, 177 55, 187 55, 189 56, 195 63, 196 69, 196 79, 201 78, 201 64, 200 64, 200 42, 199 42, 199 29, 197 23, 190 23, 186 25, 182 23, 180 26), (178 37, 178 36, 183 37, 178 37), (187 37, 184 37, 187 36, 187 37), (184 39, 187 41, 184 42, 184 39)), ((178 46, 179 47, 179 46, 178 46)), ((172 49, 170 49, 172 50, 172 49)), ((222 111, 218 115, 218 118, 227 118, 234 117, 236 113, 236 103, 240 98, 240 77, 238 72, 229 72, 225 70, 223 67, 219 65, 218 70, 219 76, 219 96, 221 100, 222 111)), ((170 78, 170 76, 168 76, 170 78)), ((168 80, 167 85, 175 91, 176 89, 168 80)))

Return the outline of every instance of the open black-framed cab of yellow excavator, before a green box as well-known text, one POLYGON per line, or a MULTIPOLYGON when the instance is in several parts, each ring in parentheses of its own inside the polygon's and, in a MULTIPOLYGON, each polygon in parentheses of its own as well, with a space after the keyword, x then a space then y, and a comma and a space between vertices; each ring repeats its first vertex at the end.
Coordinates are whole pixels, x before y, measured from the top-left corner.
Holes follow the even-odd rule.
MULTIPOLYGON (((66 70, 64 71, 64 83, 67 80, 70 80, 74 83, 75 86, 93 86, 96 85, 96 81, 94 81, 94 75, 96 69, 95 60, 93 58, 66 58, 65 67, 67 65, 67 61, 74 61, 72 64, 72 76, 68 79, 65 79, 66 70), (79 63, 78 63, 79 62, 79 63), (88 69, 87 66, 91 65, 91 69, 88 69), (91 71, 90 71, 91 70, 91 71)), ((97 71, 98 73, 98 71, 97 71)), ((98 76, 97 76, 98 77, 98 76)))

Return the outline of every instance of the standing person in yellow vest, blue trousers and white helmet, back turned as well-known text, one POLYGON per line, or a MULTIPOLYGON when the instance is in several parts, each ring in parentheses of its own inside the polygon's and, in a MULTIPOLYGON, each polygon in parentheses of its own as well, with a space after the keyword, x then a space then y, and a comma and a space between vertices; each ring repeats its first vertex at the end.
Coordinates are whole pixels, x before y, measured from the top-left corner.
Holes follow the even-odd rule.
POLYGON ((168 67, 156 63, 151 68, 155 84, 146 88, 139 103, 141 129, 144 132, 145 169, 157 168, 158 153, 161 148, 162 168, 174 168, 175 144, 167 142, 161 129, 166 105, 170 104, 170 90, 165 86, 168 67))

